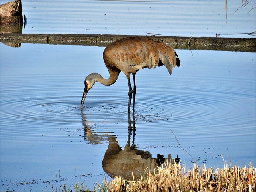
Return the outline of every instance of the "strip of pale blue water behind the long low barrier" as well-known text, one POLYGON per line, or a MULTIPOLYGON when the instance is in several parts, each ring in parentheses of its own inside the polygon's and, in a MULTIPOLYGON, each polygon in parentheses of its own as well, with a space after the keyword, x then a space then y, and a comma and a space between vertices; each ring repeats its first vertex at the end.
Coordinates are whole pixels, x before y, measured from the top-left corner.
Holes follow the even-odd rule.
POLYGON ((256 31, 255 7, 255 0, 22 0, 27 17, 22 33, 186 37, 217 33, 250 38, 255 33, 248 33, 256 31))

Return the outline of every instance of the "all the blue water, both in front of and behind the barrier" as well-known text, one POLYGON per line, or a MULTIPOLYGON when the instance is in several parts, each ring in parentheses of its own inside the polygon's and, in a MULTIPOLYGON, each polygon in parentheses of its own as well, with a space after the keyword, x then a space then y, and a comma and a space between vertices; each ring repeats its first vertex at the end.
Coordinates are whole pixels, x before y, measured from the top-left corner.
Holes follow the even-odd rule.
MULTIPOLYGON (((1 1, 1 4, 4 1, 1 1)), ((22 1, 23 33, 222 35, 255 31, 255 1, 22 1), (159 14, 161 13, 161 14, 159 14), (106 14, 106 15, 105 15, 106 14), (209 22, 210 20, 210 22, 209 22)), ((104 47, 0 44, 1 191, 90 189, 158 154, 186 167, 256 163, 256 55, 176 50, 181 68, 136 75, 134 116, 124 74, 96 83, 84 108, 84 78, 108 71, 104 47)), ((137 173, 138 174, 138 173, 137 173)))

